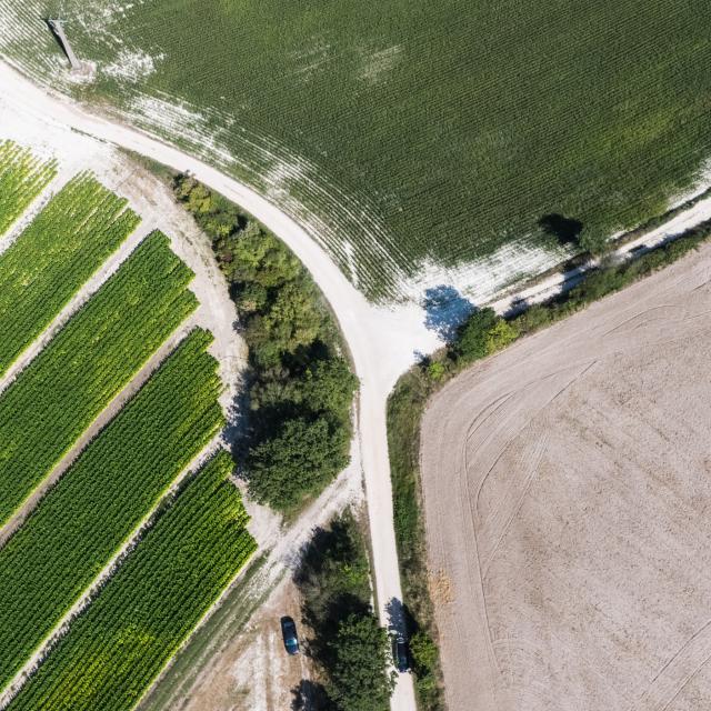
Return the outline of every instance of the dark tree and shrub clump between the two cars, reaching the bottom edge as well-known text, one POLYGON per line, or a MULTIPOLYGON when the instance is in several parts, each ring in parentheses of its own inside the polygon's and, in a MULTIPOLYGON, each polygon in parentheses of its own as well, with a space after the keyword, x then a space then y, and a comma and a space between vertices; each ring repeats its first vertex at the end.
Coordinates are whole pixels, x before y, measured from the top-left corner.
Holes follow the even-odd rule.
POLYGON ((351 513, 317 530, 294 582, 307 652, 319 670, 317 681, 294 689, 296 708, 308 697, 319 711, 387 711, 395 678, 391 643, 371 607, 368 554, 351 513))

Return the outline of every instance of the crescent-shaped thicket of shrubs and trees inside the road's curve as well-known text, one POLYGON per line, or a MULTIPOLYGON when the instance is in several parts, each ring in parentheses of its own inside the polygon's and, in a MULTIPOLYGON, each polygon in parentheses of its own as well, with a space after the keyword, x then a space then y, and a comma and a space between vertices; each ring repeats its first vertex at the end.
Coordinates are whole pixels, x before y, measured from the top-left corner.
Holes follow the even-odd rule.
POLYGON ((237 448, 249 493, 293 515, 348 464, 358 381, 323 298, 287 247, 193 178, 174 176, 172 187, 212 240, 249 347, 250 418, 237 448))

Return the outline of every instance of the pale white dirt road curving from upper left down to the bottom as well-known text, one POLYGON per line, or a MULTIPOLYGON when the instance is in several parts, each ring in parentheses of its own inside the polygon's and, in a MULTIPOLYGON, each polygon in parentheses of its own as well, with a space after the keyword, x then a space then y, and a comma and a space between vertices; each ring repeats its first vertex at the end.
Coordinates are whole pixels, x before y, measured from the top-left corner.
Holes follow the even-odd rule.
MULTIPOLYGON (((12 107, 20 117, 30 114, 58 128, 81 131, 134 151, 174 170, 189 170, 198 180, 253 214, 283 240, 311 272, 339 320, 361 382, 358 431, 370 520, 375 594, 380 620, 388 624, 388 602, 393 599, 402 600, 402 591, 392 518, 385 402, 400 373, 413 361, 414 351, 423 346, 437 347, 434 337, 423 332, 419 310, 395 312, 370 304, 326 251, 294 220, 247 186, 207 163, 136 129, 93 116, 86 108, 63 97, 46 92, 4 61, 0 61, 0 100, 12 107)), ((410 674, 399 675, 391 709, 414 711, 414 689, 410 674)))

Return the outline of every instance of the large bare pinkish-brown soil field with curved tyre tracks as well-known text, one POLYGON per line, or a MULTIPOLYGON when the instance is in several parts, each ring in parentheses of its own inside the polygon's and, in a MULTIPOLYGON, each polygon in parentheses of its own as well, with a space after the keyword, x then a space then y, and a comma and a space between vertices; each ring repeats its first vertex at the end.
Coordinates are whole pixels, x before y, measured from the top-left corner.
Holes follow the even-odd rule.
POLYGON ((431 401, 451 711, 709 708, 710 357, 705 247, 431 401))

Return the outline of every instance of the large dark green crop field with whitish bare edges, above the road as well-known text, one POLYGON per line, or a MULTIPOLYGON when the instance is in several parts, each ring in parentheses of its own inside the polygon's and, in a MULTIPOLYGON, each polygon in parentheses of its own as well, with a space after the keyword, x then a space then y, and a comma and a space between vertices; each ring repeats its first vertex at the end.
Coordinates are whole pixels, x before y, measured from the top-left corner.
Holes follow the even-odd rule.
POLYGON ((67 0, 93 84, 6 0, 0 53, 218 162, 319 232, 369 294, 560 213, 609 234, 711 157, 708 0, 67 0))

